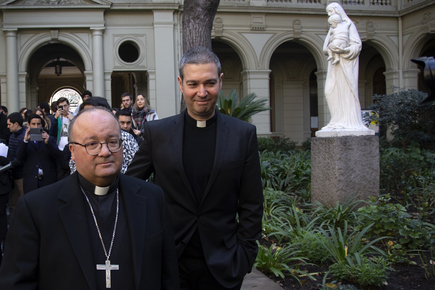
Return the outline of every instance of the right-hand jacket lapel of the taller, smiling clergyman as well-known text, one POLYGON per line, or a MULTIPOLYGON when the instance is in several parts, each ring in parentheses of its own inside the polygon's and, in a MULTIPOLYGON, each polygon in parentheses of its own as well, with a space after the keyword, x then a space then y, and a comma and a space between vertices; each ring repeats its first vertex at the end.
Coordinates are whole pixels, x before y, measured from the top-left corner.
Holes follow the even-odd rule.
POLYGON ((222 117, 223 115, 217 111, 216 113, 218 116, 216 118, 216 147, 214 150, 214 163, 201 203, 204 201, 207 193, 210 191, 211 185, 214 183, 219 169, 221 168, 222 160, 224 160, 225 148, 227 147, 228 133, 230 131, 230 129, 225 125, 225 120, 222 117))

